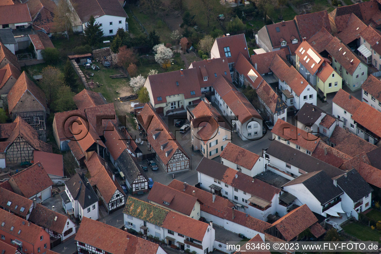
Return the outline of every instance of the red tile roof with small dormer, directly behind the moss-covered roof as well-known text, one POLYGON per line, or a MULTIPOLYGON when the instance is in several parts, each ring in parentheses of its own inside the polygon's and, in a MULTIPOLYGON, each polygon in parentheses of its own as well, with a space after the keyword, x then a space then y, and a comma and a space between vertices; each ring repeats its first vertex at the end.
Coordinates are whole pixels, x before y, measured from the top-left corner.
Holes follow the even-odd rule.
POLYGON ((186 214, 187 216, 191 215, 193 207, 197 202, 196 197, 168 187, 164 184, 160 184, 159 182, 154 183, 154 186, 150 190, 147 199, 162 206, 168 207, 169 209, 173 209, 175 211, 186 214), (170 201, 169 206, 163 204, 164 197, 167 194, 173 195, 173 199, 170 201))

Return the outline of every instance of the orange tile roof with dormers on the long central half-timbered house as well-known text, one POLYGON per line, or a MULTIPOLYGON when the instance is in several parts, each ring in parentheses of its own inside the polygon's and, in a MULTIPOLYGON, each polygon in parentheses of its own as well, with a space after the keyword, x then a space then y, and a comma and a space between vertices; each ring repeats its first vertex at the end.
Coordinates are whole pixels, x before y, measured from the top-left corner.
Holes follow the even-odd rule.
MULTIPOLYGON (((200 89, 199 89, 200 90, 200 89)), ((147 140, 149 144, 154 148, 160 160, 163 161, 164 165, 171 160, 173 154, 176 150, 181 150, 184 155, 187 156, 185 150, 181 147, 179 142, 175 139, 174 135, 169 130, 168 126, 164 123, 163 119, 152 109, 149 104, 146 104, 137 116, 139 123, 147 132, 147 140), (160 131, 156 139, 153 138, 153 133, 160 131), (161 144, 168 141, 163 150, 161 149, 161 144), (171 149, 166 156, 166 150, 171 149)), ((187 156, 188 157, 188 156, 187 156)), ((189 157, 188 157, 189 158, 189 157)))

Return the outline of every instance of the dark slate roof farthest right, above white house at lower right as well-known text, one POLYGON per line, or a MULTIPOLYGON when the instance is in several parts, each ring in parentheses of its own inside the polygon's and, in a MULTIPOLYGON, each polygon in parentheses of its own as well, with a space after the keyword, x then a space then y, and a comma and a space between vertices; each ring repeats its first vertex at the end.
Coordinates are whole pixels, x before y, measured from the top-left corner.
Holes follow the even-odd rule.
POLYGON ((337 185, 353 200, 357 202, 373 191, 370 185, 360 176, 356 169, 352 169, 345 175, 340 176, 337 185))

